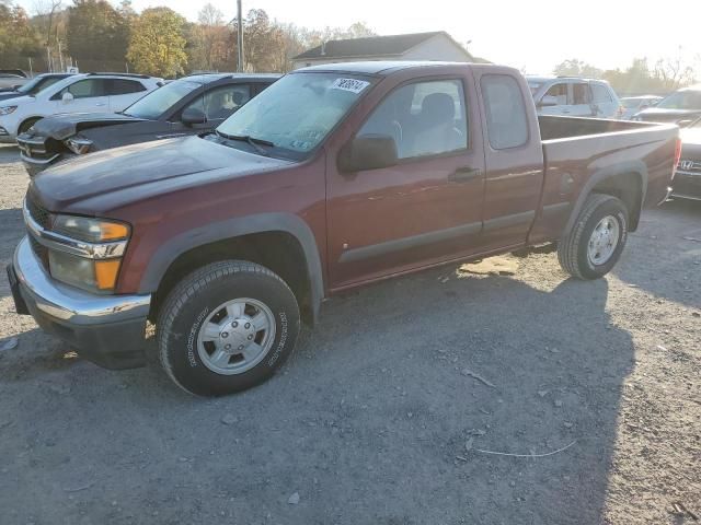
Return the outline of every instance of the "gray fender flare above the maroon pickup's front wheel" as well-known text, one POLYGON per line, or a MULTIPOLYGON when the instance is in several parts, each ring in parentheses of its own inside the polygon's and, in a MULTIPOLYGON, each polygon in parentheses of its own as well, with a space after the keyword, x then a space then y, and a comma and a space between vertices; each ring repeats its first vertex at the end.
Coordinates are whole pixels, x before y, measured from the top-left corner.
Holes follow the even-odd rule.
POLYGON ((299 242, 307 262, 306 269, 310 283, 312 316, 315 322, 324 298, 321 258, 311 229, 302 219, 291 213, 258 213, 228 219, 187 230, 168 240, 159 246, 151 257, 141 277, 139 291, 141 293, 156 292, 170 266, 180 256, 197 246, 265 232, 285 232, 299 242))

